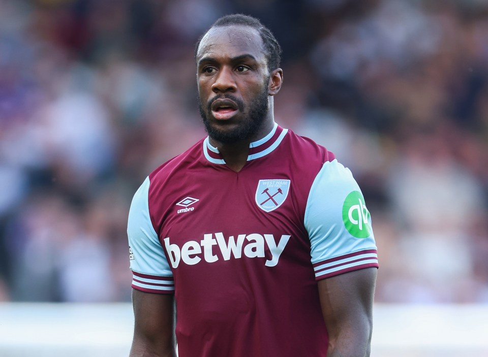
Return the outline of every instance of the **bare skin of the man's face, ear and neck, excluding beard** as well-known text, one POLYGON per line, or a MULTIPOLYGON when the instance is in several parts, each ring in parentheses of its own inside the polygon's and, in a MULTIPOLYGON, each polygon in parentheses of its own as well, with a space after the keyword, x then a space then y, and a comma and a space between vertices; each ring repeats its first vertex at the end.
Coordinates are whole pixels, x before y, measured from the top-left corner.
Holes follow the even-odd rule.
MULTIPOLYGON (((222 143, 210 138, 210 144, 217 147, 226 164, 238 172, 247 162, 249 144, 268 134, 275 123, 273 96, 281 89, 283 71, 278 68, 269 73, 262 40, 256 30, 246 26, 216 27, 208 31, 200 42, 197 52, 197 83, 202 103, 206 104, 216 96, 232 94, 249 103, 267 86, 267 116, 251 137, 232 143, 222 143), (232 28, 232 31, 229 31, 232 28), (269 74, 269 80, 266 81, 269 74)), ((204 105, 205 107, 205 105, 204 105)), ((221 131, 232 131, 241 125, 248 111, 238 110, 231 118, 218 119, 207 111, 210 124, 221 131)))

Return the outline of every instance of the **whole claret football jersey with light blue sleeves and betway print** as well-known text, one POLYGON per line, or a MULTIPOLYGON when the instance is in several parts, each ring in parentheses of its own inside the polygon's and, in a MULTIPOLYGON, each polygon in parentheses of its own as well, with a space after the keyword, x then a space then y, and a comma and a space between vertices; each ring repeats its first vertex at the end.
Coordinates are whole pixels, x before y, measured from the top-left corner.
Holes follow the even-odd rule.
POLYGON ((276 124, 239 172, 208 138, 159 167, 128 235, 132 287, 175 295, 180 357, 325 357, 317 280, 378 267, 351 172, 276 124))

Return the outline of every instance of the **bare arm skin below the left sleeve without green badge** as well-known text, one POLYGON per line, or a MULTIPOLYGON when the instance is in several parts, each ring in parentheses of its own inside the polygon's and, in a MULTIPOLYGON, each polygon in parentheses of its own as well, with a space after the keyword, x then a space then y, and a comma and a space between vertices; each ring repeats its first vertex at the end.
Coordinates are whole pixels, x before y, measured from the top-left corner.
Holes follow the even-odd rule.
POLYGON ((171 294, 132 290, 135 323, 131 356, 175 355, 173 300, 171 294))

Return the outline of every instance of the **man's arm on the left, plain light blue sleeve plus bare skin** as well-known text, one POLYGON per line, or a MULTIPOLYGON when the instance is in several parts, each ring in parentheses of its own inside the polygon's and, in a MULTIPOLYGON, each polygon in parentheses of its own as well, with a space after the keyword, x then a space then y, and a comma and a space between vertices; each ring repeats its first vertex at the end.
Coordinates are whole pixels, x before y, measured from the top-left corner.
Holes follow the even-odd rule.
POLYGON ((149 184, 146 178, 135 193, 127 226, 135 318, 131 356, 173 357, 173 273, 150 219, 149 184))

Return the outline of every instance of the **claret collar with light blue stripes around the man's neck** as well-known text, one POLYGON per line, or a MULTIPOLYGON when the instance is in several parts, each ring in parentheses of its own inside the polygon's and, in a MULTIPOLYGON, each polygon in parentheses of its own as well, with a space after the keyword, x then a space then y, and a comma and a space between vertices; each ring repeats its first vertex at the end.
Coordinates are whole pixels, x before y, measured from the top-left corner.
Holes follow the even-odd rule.
MULTIPOLYGON (((282 128, 280 125, 275 123, 272 130, 264 138, 249 144, 249 155, 248 161, 257 159, 259 157, 266 156, 273 150, 275 150, 281 141, 288 133, 288 129, 282 128)), ((225 164, 219 149, 212 146, 208 137, 203 141, 203 154, 205 158, 214 164, 225 164)))

